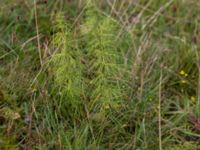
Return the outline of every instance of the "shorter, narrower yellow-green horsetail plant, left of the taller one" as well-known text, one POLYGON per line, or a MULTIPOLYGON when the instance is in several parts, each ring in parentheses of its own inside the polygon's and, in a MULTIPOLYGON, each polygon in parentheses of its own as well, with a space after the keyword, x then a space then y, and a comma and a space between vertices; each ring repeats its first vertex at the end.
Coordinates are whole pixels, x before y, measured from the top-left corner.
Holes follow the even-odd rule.
POLYGON ((52 58, 55 83, 63 97, 62 105, 78 110, 83 90, 81 51, 77 49, 73 30, 62 13, 56 15, 55 32, 52 44, 59 50, 52 58))

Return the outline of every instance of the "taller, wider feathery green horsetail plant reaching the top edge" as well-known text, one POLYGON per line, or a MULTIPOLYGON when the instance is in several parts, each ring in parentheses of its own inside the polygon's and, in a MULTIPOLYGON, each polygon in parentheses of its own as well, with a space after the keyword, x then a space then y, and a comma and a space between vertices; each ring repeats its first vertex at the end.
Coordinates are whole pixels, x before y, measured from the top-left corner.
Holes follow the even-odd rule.
POLYGON ((85 22, 82 25, 88 59, 91 108, 105 111, 116 108, 122 100, 117 76, 121 71, 120 52, 116 45, 118 24, 109 16, 102 15, 88 1, 85 22), (96 109, 97 108, 97 109, 96 109))

